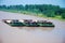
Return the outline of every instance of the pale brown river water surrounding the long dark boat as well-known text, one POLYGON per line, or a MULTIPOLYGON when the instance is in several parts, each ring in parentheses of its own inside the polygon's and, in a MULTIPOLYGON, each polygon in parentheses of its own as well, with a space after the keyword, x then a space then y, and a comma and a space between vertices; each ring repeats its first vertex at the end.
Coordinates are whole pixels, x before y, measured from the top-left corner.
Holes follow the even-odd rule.
POLYGON ((65 43, 65 22, 0 11, 0 43, 65 43), (11 27, 2 19, 44 19, 55 27, 11 27))

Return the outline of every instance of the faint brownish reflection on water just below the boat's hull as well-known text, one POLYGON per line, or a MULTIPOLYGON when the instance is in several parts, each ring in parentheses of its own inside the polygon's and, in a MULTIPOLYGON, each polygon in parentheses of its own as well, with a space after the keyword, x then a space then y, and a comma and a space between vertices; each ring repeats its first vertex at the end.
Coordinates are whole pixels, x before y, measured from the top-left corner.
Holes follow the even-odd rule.
POLYGON ((50 30, 53 30, 54 27, 17 27, 18 29, 26 29, 26 30, 47 30, 47 31, 50 31, 50 30))

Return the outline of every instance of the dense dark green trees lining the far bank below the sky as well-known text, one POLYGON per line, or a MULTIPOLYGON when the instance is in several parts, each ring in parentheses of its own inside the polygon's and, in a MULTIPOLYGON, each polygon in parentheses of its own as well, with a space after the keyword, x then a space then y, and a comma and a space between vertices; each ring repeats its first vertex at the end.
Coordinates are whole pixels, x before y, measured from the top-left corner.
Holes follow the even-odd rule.
POLYGON ((26 4, 26 5, 0 5, 0 10, 16 10, 16 11, 29 11, 32 13, 42 13, 48 17, 62 16, 65 18, 65 8, 52 4, 26 4))

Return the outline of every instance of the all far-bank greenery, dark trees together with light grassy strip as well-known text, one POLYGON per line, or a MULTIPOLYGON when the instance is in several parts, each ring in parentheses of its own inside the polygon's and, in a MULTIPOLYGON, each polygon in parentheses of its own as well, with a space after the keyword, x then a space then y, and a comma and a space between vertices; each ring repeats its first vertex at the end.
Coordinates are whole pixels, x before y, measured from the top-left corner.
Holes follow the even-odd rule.
POLYGON ((60 8, 58 5, 52 4, 0 5, 0 11, 65 19, 65 8, 60 8))

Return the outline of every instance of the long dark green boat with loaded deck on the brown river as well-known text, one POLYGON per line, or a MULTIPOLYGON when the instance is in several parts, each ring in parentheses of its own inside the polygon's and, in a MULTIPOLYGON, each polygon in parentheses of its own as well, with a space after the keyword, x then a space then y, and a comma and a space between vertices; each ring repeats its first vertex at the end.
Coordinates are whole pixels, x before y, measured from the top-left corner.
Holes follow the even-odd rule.
POLYGON ((3 19, 3 22, 12 27, 54 27, 53 23, 47 20, 3 19))

